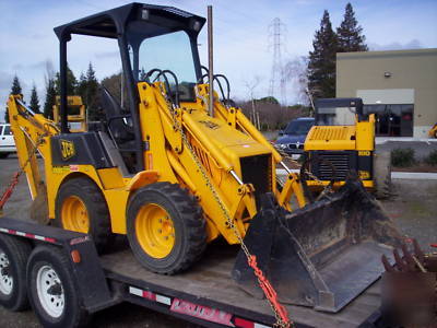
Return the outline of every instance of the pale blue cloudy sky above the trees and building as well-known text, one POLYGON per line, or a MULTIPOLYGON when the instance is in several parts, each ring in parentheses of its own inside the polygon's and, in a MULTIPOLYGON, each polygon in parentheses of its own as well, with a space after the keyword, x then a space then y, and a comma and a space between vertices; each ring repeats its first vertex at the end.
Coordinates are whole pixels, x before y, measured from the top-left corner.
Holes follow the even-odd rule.
MULTIPOLYGON (((2 0, 0 1, 0 110, 3 109, 14 74, 20 78, 25 99, 35 83, 45 97, 47 67, 58 70, 58 26, 103 10, 126 4, 121 0, 2 0)), ((359 0, 351 1, 373 50, 437 47, 437 1, 435 0, 359 0)), ((265 96, 272 67, 273 48, 269 25, 280 17, 284 23, 282 61, 285 63, 311 49, 315 31, 323 10, 331 15, 333 27, 343 16, 343 0, 155 0, 205 16, 206 5, 214 8, 214 70, 226 74, 232 94, 248 98, 255 77, 261 81, 256 97, 265 96)), ((206 28, 200 35, 200 52, 206 61, 206 28)), ((108 40, 76 37, 69 48, 69 63, 75 75, 86 71, 92 61, 97 78, 119 70, 116 45, 108 40)), ((295 85, 287 85, 287 98, 296 99, 295 85)), ((3 119, 0 113, 0 120, 3 119)))

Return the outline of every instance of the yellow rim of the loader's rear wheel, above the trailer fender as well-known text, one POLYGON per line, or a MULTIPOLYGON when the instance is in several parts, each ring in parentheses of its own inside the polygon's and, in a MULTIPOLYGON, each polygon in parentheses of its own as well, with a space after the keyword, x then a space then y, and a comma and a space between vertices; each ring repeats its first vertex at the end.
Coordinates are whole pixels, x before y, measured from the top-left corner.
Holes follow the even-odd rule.
POLYGON ((90 218, 85 203, 76 196, 64 199, 61 209, 62 226, 67 230, 88 233, 90 218))

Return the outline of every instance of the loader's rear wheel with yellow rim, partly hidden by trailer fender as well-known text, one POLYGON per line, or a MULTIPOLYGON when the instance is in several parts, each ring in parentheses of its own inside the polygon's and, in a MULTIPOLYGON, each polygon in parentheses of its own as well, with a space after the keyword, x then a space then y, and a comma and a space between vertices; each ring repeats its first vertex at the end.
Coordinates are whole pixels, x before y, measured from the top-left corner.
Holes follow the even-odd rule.
POLYGON ((105 197, 84 177, 72 178, 60 187, 54 225, 90 234, 99 254, 114 242, 105 197))

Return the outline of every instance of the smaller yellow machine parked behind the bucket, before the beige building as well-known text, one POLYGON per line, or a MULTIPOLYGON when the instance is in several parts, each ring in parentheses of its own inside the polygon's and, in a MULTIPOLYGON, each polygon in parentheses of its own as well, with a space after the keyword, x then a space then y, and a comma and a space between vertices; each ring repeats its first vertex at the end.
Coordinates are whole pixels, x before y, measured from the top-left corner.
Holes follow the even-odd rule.
POLYGON ((375 114, 364 112, 363 99, 319 98, 315 114, 315 126, 305 140, 303 167, 318 180, 303 175, 304 186, 316 191, 329 184, 338 188, 354 171, 377 198, 389 197, 391 153, 376 149, 375 114))

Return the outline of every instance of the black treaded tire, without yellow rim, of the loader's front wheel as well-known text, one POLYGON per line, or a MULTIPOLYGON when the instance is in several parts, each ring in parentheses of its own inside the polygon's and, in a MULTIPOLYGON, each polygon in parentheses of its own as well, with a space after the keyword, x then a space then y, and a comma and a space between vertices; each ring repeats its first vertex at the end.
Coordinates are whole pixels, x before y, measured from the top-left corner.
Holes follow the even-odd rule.
POLYGON ((200 259, 206 247, 206 230, 203 211, 194 197, 179 185, 156 183, 137 190, 128 206, 128 239, 130 247, 145 268, 153 272, 174 274, 188 269, 200 259), (164 258, 147 255, 137 239, 135 219, 147 203, 164 208, 173 220, 175 245, 164 258))

